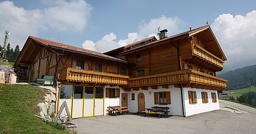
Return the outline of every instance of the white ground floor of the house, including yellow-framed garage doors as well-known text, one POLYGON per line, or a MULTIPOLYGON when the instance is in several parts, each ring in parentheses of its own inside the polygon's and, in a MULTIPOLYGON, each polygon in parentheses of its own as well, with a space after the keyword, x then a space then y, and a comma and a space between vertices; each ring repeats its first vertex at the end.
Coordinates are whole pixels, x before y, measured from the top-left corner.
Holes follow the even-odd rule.
POLYGON ((216 94, 216 90, 176 88, 173 85, 125 91, 119 86, 60 83, 56 111, 66 102, 72 118, 108 115, 107 107, 113 106, 128 107, 130 113, 155 106, 169 107, 168 115, 191 116, 219 110, 216 94))

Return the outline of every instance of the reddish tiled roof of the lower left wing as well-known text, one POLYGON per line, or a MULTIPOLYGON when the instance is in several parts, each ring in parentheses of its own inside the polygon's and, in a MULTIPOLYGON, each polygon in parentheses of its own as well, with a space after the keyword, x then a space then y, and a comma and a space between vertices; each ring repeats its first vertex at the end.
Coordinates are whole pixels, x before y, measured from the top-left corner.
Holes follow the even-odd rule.
MULTIPOLYGON (((89 55, 89 56, 92 56, 92 57, 104 58, 104 59, 112 60, 112 61, 115 61, 115 62, 128 63, 126 60, 122 60, 120 58, 112 57, 110 55, 105 55, 105 54, 102 54, 101 52, 91 51, 91 50, 88 50, 88 49, 83 49, 83 48, 79 48, 79 47, 76 47, 76 46, 71 46, 71 45, 68 45, 68 44, 63 44, 63 43, 58 43, 58 42, 55 42, 55 41, 45 40, 43 38, 38 38, 38 37, 33 37, 33 36, 29 36, 27 38, 27 40, 29 40, 29 39, 31 39, 31 40, 33 40, 33 41, 35 41, 35 42, 37 42, 37 43, 39 43, 43 46, 46 46, 48 48, 61 49, 61 50, 64 50, 64 51, 89 55)), ((20 57, 20 55, 19 55, 19 57, 20 57)), ((16 60, 16 62, 17 62, 17 60, 16 60)), ((16 62, 15 62, 15 65, 16 65, 16 62)))

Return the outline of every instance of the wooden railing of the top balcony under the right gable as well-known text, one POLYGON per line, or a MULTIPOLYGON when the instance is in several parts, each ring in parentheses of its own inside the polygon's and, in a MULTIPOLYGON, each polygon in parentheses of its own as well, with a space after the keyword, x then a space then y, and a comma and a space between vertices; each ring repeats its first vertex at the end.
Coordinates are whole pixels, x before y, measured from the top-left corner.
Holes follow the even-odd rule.
POLYGON ((208 62, 211 62, 215 64, 216 66, 219 66, 220 68, 223 68, 224 61, 221 60, 221 58, 216 57, 212 53, 208 52, 201 46, 194 46, 193 49, 193 55, 196 55, 197 57, 203 58, 204 60, 207 60, 208 62))

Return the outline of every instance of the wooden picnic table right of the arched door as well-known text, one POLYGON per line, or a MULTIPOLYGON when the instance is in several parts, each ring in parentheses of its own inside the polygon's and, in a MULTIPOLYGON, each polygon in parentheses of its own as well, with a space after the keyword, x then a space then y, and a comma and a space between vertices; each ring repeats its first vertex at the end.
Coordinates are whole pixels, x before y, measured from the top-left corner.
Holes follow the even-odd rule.
POLYGON ((162 115, 167 116, 168 115, 168 109, 169 107, 151 107, 151 108, 145 108, 147 111, 143 111, 145 113, 145 116, 151 114, 151 115, 158 115, 160 118, 162 115))

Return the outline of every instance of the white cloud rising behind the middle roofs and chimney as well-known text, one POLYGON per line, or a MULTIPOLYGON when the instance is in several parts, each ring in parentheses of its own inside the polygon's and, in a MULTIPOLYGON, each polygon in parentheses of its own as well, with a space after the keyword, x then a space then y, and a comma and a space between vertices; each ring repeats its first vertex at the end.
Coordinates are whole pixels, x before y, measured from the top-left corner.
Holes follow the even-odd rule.
POLYGON ((146 21, 141 21, 139 24, 138 32, 128 33, 126 39, 121 39, 116 41, 115 33, 111 32, 105 35, 101 40, 96 41, 95 45, 90 43, 83 43, 83 48, 87 49, 94 47, 95 51, 107 52, 112 49, 116 49, 120 46, 125 46, 126 44, 133 43, 143 38, 155 36, 157 37, 157 29, 160 26, 162 29, 168 29, 169 34, 174 34, 180 32, 179 25, 182 23, 179 18, 169 18, 166 16, 160 16, 159 18, 151 19, 148 23, 146 21), (84 47, 85 46, 85 47, 84 47), (90 47, 89 47, 90 46, 90 47))

